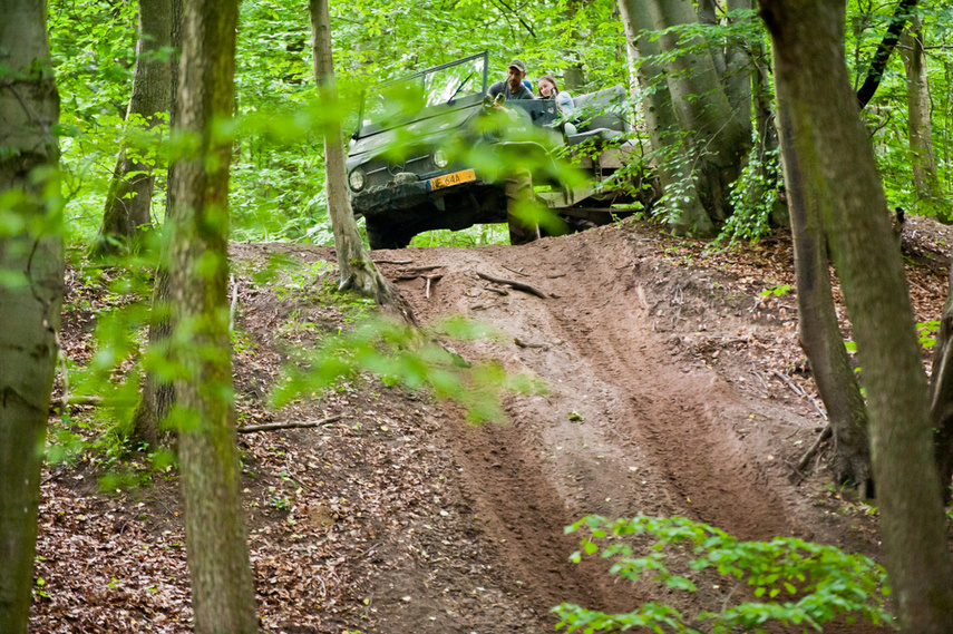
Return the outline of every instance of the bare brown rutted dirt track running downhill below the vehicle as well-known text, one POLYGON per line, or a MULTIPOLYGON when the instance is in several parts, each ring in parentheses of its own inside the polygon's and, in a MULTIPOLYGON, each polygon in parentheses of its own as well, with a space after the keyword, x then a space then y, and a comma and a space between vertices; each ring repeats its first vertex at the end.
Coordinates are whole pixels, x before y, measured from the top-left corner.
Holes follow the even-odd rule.
POLYGON ((563 527, 586 514, 682 515, 746 539, 811 535, 789 513, 789 469, 751 432, 770 417, 816 422, 766 409, 678 354, 688 314, 659 328, 651 257, 638 238, 604 228, 521 247, 400 253, 443 274, 429 298, 421 281, 400 283, 422 323, 461 314, 493 324, 499 339, 456 350, 548 386, 508 397, 507 425, 473 428, 458 417, 446 428, 464 495, 499 545, 497 568, 525 584, 534 613, 562 601, 623 611, 641 598, 603 563, 567 560, 577 539, 563 527))

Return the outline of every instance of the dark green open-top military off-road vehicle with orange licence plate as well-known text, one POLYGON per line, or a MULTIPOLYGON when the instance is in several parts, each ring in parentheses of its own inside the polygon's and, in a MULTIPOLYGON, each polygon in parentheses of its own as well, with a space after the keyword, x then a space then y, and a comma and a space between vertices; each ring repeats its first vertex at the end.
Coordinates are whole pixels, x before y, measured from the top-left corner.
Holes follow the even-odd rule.
POLYGON ((514 217, 518 199, 545 205, 567 230, 638 208, 613 204, 652 199, 648 185, 612 178, 638 152, 626 140, 621 86, 576 97, 576 126, 565 127, 552 100, 500 107, 487 97, 487 62, 483 52, 364 91, 347 168, 372 248, 484 223, 508 222, 512 242, 532 240, 539 230, 514 217), (567 136, 573 127, 580 131, 567 136), (566 177, 567 165, 577 177, 566 177))

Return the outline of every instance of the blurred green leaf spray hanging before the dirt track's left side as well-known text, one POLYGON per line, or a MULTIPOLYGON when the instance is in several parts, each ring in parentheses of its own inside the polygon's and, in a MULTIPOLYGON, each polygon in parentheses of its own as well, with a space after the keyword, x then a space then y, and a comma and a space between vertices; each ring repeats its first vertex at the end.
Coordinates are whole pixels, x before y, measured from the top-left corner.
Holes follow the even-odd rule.
POLYGON ((424 332, 403 322, 375 316, 348 332, 325 338, 314 350, 292 354, 293 365, 272 393, 272 404, 321 394, 363 373, 385 384, 410 390, 428 388, 438 400, 454 400, 471 421, 503 420, 497 394, 500 390, 537 392, 534 378, 509 375, 496 363, 471 365, 459 354, 437 343, 443 338, 470 340, 493 336, 486 326, 463 319, 444 321, 424 332))

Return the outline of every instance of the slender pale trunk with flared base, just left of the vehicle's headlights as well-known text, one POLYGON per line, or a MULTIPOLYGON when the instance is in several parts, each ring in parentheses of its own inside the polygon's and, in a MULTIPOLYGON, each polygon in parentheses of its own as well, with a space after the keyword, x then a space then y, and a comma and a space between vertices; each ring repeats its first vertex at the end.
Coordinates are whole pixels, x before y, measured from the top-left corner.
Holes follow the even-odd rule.
MULTIPOLYGON (((309 0, 311 13, 312 50, 314 56, 314 79, 322 103, 329 111, 336 113, 338 91, 334 87, 334 62, 331 57, 331 18, 328 0, 309 0)), ((324 168, 328 187, 328 215, 334 232, 334 250, 338 254, 340 272, 339 290, 352 289, 378 304, 390 304, 393 291, 380 274, 364 246, 351 202, 348 198, 348 175, 344 168, 344 143, 340 121, 328 125, 324 133, 324 168)))

